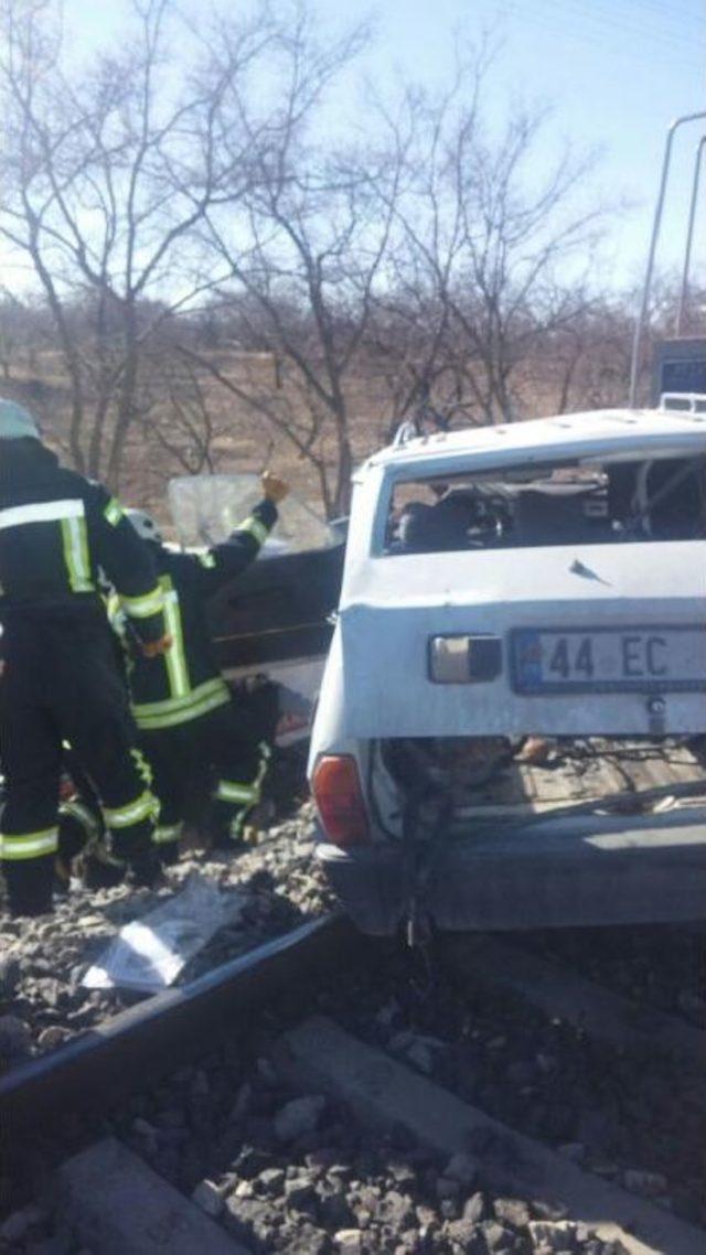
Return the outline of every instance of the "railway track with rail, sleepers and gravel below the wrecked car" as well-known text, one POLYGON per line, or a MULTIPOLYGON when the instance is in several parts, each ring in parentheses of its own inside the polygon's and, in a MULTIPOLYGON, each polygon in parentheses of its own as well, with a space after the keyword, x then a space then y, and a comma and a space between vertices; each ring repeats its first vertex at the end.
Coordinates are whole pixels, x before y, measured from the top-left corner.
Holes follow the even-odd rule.
MULTIPOLYGON (((25 1186, 38 1111, 45 1161, 109 1128, 258 1255, 696 1255, 703 1039, 516 937, 445 940, 422 969, 333 914, 15 1068, 3 1128, 25 1186), (607 1088, 624 1086, 626 1109, 652 1103, 668 1145, 691 1111, 673 1171, 641 1155, 649 1122, 634 1109, 627 1132, 607 1131, 613 1162, 536 1118, 538 1074, 540 1098, 565 1097, 599 1068, 603 1118, 607 1088), (308 1116, 281 1136, 296 1103, 308 1116)), ((1 1235, 0 1250, 33 1249, 1 1235)))

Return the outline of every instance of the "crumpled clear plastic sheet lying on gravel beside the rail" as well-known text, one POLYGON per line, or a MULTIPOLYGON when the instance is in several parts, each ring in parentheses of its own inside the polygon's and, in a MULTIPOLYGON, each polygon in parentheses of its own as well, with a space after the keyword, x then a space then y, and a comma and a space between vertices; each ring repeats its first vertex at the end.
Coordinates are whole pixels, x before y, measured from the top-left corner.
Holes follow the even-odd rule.
POLYGON ((181 894, 126 924, 82 984, 87 989, 160 993, 219 929, 239 920, 244 905, 241 897, 222 892, 211 880, 191 876, 181 894))

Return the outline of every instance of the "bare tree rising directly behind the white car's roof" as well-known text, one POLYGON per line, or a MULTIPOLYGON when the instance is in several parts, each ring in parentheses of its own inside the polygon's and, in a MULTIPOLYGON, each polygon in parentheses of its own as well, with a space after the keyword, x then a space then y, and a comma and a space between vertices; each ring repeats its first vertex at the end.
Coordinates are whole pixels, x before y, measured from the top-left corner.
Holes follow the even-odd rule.
POLYGON ((398 220, 402 269, 417 284, 408 307, 435 311, 426 382, 466 419, 510 422, 523 361, 580 314, 575 271, 590 269, 603 213, 575 203, 589 159, 565 152, 536 177, 544 113, 515 110, 489 138, 489 64, 481 48, 443 97, 408 93, 417 174, 398 220))

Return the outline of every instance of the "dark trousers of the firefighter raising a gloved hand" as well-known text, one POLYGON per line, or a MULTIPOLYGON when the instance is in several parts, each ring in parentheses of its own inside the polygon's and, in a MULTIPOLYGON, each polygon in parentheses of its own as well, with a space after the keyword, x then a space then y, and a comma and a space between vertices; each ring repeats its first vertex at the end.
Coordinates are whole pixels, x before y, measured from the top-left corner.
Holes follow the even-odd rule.
POLYGON ((198 719, 142 730, 141 745, 160 798, 155 840, 163 862, 175 860, 183 822, 200 820, 204 794, 211 797, 215 843, 229 846, 240 840, 249 812, 260 801, 270 759, 270 748, 258 740, 246 710, 224 703, 198 719))

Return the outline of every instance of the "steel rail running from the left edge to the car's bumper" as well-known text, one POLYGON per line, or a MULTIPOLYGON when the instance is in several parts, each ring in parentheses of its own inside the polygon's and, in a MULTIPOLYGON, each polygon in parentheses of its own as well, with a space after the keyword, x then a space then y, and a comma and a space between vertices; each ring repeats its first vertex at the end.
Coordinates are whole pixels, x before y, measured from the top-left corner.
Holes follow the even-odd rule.
POLYGON ((361 935, 343 912, 304 924, 188 985, 156 994, 0 1078, 3 1140, 97 1118, 128 1094, 209 1053, 245 1015, 301 978, 345 964, 361 935))

